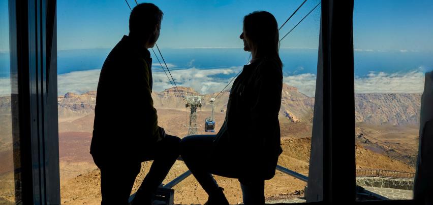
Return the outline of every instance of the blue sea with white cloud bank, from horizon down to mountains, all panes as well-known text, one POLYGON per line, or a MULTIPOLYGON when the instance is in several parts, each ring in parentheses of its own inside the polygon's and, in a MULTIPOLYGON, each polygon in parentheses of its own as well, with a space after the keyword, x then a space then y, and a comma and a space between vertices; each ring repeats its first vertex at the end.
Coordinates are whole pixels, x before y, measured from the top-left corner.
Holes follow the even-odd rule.
MULTIPOLYGON (((58 94, 96 90, 99 70, 110 50, 57 51, 58 94)), ((156 56, 150 52, 153 89, 170 88, 156 56)), ((158 51, 155 49, 155 52, 158 51)), ((176 83, 201 93, 223 89, 250 56, 242 48, 161 48, 161 52, 176 83)), ((308 96, 314 96, 318 50, 282 48, 280 57, 284 64, 284 82, 308 96)), ((433 52, 355 50, 355 92, 420 93, 424 87, 424 73, 433 70, 432 57, 433 52)), ((163 63, 162 58, 158 58, 163 63)), ((10 93, 7 88, 9 76, 9 54, 0 53, 0 95, 10 93)))

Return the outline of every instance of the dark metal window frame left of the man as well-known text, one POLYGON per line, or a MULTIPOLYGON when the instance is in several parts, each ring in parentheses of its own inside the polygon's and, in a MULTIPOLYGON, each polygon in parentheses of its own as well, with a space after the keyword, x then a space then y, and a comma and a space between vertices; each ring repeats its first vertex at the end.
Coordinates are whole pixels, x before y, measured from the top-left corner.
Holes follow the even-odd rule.
POLYGON ((18 204, 60 204, 56 1, 9 1, 18 204))

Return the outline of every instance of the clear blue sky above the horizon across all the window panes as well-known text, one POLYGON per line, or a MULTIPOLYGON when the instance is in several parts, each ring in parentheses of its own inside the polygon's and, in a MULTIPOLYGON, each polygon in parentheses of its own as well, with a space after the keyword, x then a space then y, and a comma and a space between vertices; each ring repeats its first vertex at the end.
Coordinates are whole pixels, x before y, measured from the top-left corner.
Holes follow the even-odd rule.
MULTIPOLYGON (((0 0, 0 51, 9 50, 7 0, 0 0)), ((129 0, 134 6, 134 1, 129 0)), ((138 1, 142 2, 142 1, 138 1)), ((149 1, 165 13, 159 45, 162 48, 241 47, 242 17, 255 10, 273 13, 281 24, 302 2, 292 1, 149 1)), ((317 4, 308 0, 287 31, 317 4)), ((374 51, 433 51, 433 3, 428 0, 355 1, 354 44, 374 51)), ((122 0, 57 1, 58 49, 112 48, 128 33, 130 10, 122 0)), ((282 47, 317 48, 320 12, 308 17, 282 47)))

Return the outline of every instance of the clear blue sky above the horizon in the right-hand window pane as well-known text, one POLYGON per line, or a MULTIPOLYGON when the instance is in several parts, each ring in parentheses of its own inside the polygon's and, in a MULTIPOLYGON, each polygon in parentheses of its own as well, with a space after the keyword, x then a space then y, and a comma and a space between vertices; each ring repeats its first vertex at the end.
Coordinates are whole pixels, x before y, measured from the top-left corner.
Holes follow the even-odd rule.
POLYGON ((360 0, 354 7, 354 46, 380 51, 433 51, 431 0, 360 0))

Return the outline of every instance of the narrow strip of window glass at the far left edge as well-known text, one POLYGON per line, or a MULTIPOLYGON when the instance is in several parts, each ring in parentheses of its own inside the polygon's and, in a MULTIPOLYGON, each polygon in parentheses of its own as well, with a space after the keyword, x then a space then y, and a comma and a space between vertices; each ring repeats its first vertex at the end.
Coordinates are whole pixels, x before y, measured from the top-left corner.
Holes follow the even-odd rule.
POLYGON ((8 1, 0 1, 0 204, 15 204, 8 1))

